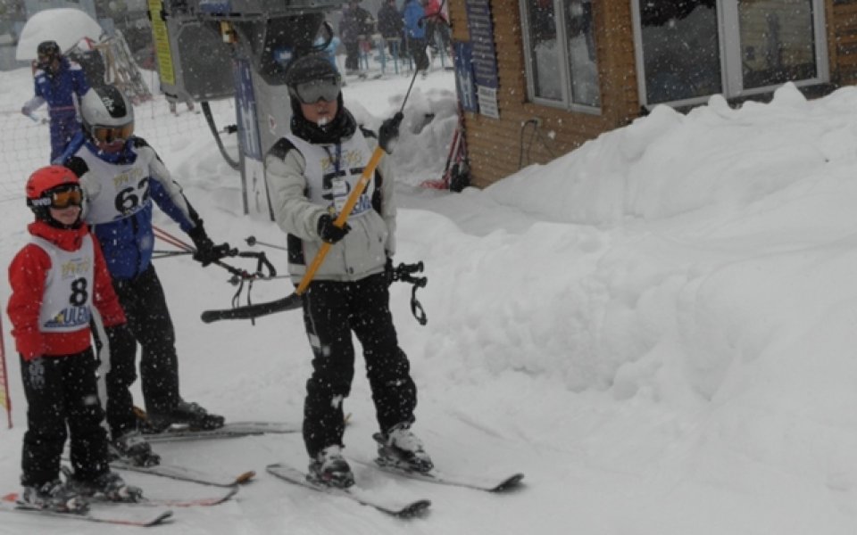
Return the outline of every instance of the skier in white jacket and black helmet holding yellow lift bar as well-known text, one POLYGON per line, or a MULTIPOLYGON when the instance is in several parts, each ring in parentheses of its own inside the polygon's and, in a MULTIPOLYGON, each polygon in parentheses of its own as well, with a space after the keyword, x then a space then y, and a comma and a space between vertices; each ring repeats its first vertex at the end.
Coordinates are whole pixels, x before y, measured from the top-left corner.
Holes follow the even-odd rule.
MULTIPOLYGON (((427 472, 431 459, 411 432, 417 387, 389 308, 395 253, 392 167, 382 159, 348 223, 334 225, 378 143, 345 109, 341 77, 320 54, 295 60, 286 71, 286 85, 293 112, 290 133, 271 147, 266 169, 277 224, 288 234, 292 281, 301 281, 322 243, 331 245, 303 300, 313 355, 304 399, 308 477, 336 487, 354 484, 342 456, 342 405, 354 378, 352 333, 366 361, 380 456, 427 472)), ((388 119, 382 136, 387 132, 387 139, 395 139, 401 119, 401 114, 388 119)))

